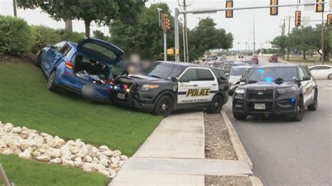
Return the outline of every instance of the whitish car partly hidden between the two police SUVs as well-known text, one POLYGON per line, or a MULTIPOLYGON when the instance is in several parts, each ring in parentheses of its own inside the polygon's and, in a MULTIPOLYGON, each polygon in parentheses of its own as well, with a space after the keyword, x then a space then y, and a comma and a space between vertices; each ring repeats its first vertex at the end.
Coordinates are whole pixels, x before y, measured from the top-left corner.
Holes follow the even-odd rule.
POLYGON ((240 86, 240 79, 244 77, 244 75, 249 71, 249 69, 253 69, 252 66, 233 66, 230 70, 230 76, 228 78, 230 82, 230 89, 228 90, 229 95, 233 95, 234 91, 238 86, 240 86))

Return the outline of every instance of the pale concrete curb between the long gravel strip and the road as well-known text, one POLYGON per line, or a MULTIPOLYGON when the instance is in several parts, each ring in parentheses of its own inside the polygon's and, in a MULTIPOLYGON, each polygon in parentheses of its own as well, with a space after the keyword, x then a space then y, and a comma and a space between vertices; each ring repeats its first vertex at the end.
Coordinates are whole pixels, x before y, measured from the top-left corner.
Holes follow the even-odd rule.
POLYGON ((237 157, 239 158, 240 161, 247 162, 250 169, 252 170, 254 168, 254 166, 253 166, 249 156, 247 155, 246 150, 244 150, 244 147, 240 141, 239 136, 237 136, 237 133, 233 127, 232 122, 230 122, 230 119, 228 118, 228 116, 224 110, 221 110, 221 115, 223 116, 223 120, 225 120, 225 124, 228 129, 228 134, 230 135, 230 141, 232 141, 232 144, 233 144, 237 157))

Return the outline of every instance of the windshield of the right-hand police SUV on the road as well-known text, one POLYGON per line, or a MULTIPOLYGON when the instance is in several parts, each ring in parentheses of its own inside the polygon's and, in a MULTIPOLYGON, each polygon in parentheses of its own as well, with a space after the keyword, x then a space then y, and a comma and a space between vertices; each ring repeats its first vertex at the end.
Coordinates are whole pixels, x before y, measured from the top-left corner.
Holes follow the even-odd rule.
POLYGON ((296 66, 280 66, 254 69, 248 77, 248 82, 272 82, 277 78, 282 78, 285 81, 296 79, 296 66))

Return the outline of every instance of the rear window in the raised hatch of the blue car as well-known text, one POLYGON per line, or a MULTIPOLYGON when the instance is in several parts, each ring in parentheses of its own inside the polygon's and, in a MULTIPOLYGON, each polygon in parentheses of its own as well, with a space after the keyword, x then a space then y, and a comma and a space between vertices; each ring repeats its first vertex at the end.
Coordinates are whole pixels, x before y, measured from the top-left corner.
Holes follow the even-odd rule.
POLYGON ((104 48, 102 45, 97 45, 95 43, 85 43, 83 45, 83 50, 87 50, 93 55, 109 59, 109 61, 113 61, 114 59, 116 59, 116 54, 113 51, 109 50, 108 48, 104 48))

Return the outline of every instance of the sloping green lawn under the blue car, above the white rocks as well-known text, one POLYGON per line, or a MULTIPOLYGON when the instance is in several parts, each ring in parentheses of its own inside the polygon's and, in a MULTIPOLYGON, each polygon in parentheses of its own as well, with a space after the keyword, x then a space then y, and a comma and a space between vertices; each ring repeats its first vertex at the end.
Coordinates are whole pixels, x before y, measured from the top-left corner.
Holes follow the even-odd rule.
POLYGON ((0 62, 0 120, 64 139, 108 145, 131 156, 162 117, 83 100, 67 90, 50 92, 33 64, 0 62))

